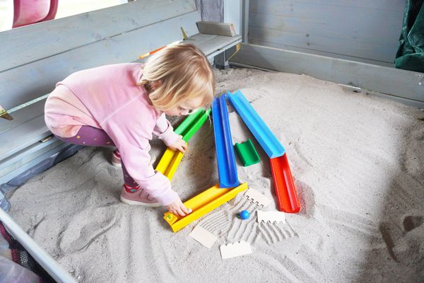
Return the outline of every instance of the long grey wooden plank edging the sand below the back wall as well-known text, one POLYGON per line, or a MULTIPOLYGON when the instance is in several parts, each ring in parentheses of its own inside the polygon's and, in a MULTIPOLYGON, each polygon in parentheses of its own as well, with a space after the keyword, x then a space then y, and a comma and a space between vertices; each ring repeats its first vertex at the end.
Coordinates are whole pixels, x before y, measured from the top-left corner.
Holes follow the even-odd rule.
POLYGON ((242 44, 242 49, 231 61, 275 71, 307 74, 365 91, 406 98, 411 103, 417 102, 417 106, 424 103, 424 74, 415 71, 249 44, 242 44))

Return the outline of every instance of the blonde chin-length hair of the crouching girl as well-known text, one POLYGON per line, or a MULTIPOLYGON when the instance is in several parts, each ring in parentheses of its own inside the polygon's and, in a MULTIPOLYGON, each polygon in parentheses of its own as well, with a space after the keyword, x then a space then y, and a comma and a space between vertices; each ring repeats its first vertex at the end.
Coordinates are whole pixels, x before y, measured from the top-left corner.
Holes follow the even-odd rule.
POLYGON ((148 59, 139 85, 146 87, 153 106, 159 110, 169 110, 191 98, 203 98, 201 106, 209 107, 215 93, 215 75, 196 46, 172 45, 148 59), (152 89, 155 81, 160 83, 152 89))

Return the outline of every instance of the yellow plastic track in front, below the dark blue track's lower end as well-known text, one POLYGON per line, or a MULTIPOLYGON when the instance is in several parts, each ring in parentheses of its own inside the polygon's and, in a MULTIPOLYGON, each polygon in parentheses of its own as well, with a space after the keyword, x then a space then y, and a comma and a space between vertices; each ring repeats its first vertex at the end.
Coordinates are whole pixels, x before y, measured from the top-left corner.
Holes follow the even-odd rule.
POLYGON ((165 212, 163 219, 170 224, 172 231, 177 232, 189 225, 201 216, 204 216, 213 209, 220 207, 220 205, 232 200, 239 192, 247 190, 247 183, 242 183, 238 187, 233 189, 221 188, 219 185, 214 185, 208 188, 199 195, 196 195, 187 202, 184 202, 184 206, 192 209, 192 213, 186 216, 177 216, 172 212, 165 212))

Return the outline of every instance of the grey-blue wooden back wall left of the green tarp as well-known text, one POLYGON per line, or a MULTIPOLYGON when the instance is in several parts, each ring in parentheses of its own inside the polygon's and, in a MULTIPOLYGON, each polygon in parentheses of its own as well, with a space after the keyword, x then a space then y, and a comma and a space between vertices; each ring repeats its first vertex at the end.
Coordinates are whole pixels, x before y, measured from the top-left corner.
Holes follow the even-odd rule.
POLYGON ((250 0, 249 43, 392 66, 405 0, 250 0))

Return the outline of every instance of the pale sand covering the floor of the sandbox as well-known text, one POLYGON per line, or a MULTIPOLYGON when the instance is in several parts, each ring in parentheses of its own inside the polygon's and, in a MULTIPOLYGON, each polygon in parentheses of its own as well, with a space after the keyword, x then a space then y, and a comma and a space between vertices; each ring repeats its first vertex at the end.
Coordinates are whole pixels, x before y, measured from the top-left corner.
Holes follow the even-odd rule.
MULTIPOLYGON (((239 195, 172 233, 165 209, 119 202, 111 150, 91 148, 20 187, 13 218, 81 282, 424 282, 423 111, 310 76, 230 69, 217 80, 218 91, 240 88, 285 146, 302 201, 288 225, 236 219, 256 209, 239 195), (199 223, 219 236, 210 250, 188 236, 199 223), (252 255, 220 258, 220 244, 241 240, 252 255)), ((252 138, 229 110, 233 141, 252 138)), ((259 153, 239 178, 272 197, 259 153)), ((207 122, 172 185, 187 200, 216 183, 207 122)))

